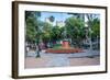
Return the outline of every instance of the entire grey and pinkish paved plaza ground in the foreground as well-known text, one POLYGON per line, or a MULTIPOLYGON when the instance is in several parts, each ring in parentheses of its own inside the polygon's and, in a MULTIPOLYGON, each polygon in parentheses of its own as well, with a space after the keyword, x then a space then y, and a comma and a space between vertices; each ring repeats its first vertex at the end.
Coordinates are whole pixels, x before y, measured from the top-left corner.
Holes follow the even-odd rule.
POLYGON ((41 52, 41 58, 35 58, 35 52, 28 53, 25 59, 25 68, 36 67, 65 67, 65 66, 81 66, 81 65, 98 65, 99 52, 98 50, 85 50, 86 53, 75 54, 51 54, 41 52), (96 57, 98 56, 98 58, 96 57), (90 57, 95 57, 90 58, 90 57))

